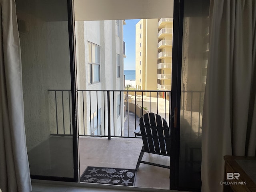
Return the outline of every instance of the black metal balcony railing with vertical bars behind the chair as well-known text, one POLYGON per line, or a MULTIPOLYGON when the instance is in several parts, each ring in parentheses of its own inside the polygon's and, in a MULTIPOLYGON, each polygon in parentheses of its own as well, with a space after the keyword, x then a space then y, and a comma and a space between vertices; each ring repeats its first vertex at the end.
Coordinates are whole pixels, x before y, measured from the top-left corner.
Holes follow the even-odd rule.
MULTIPOLYGON (((71 90, 48 92, 55 121, 51 134, 71 135, 71 90)), ((169 122, 170 94, 170 90, 78 90, 79 136, 135 138, 134 130, 142 114, 154 112, 169 122)))

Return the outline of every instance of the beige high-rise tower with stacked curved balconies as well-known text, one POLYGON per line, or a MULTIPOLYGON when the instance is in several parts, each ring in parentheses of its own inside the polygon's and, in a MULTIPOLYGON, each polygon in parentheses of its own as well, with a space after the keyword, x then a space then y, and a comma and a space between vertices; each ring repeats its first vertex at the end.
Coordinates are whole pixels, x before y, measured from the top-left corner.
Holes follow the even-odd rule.
POLYGON ((172 26, 172 18, 136 24, 136 89, 171 90, 172 26))

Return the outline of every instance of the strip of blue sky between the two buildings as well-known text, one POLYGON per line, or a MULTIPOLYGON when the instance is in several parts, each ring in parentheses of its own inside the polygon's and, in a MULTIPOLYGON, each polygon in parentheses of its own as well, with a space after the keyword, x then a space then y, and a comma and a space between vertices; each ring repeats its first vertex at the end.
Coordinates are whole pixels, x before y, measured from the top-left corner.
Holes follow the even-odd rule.
POLYGON ((135 70, 135 25, 140 19, 125 20, 124 25, 124 42, 125 55, 124 70, 135 70))

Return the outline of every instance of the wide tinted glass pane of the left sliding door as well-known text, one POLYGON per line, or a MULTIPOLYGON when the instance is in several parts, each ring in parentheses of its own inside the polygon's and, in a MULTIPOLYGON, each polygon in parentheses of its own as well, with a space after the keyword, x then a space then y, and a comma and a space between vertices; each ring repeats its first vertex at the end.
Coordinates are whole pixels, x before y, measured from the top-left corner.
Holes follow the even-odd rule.
POLYGON ((16 5, 30 173, 74 178, 67 1, 16 5))

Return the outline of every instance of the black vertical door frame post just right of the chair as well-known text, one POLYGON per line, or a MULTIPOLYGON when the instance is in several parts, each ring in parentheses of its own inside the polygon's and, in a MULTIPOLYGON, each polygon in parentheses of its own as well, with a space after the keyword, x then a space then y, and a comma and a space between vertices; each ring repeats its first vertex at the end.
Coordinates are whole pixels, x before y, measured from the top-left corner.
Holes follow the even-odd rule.
POLYGON ((172 95, 171 95, 171 152, 170 152, 170 189, 179 187, 180 156, 180 94, 182 68, 184 0, 174 0, 173 40, 172 40, 172 95), (173 91, 174 90, 174 91, 173 91))

